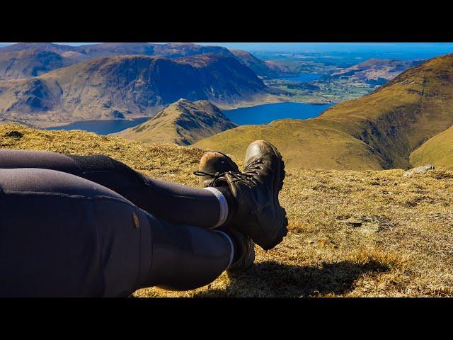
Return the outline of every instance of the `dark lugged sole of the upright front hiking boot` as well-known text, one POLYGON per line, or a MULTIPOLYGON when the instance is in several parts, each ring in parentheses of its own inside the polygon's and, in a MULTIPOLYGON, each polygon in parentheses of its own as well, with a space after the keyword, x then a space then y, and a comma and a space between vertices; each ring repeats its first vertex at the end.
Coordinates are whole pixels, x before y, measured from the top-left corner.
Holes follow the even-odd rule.
POLYGON ((268 244, 263 244, 263 249, 264 250, 269 250, 272 249, 274 246, 277 244, 280 244, 280 242, 283 241, 283 237, 285 237, 288 233, 288 219, 286 216, 286 210, 280 205, 280 202, 278 200, 278 194, 283 188, 283 181, 285 180, 286 176, 286 171, 285 171, 285 162, 283 161, 282 155, 280 152, 277 151, 277 149, 270 143, 268 145, 273 149, 273 152, 278 157, 277 162, 277 174, 275 176, 275 181, 274 181, 274 208, 275 211, 277 212, 277 220, 276 223, 279 225, 278 231, 276 236, 273 238, 272 242, 268 244))

